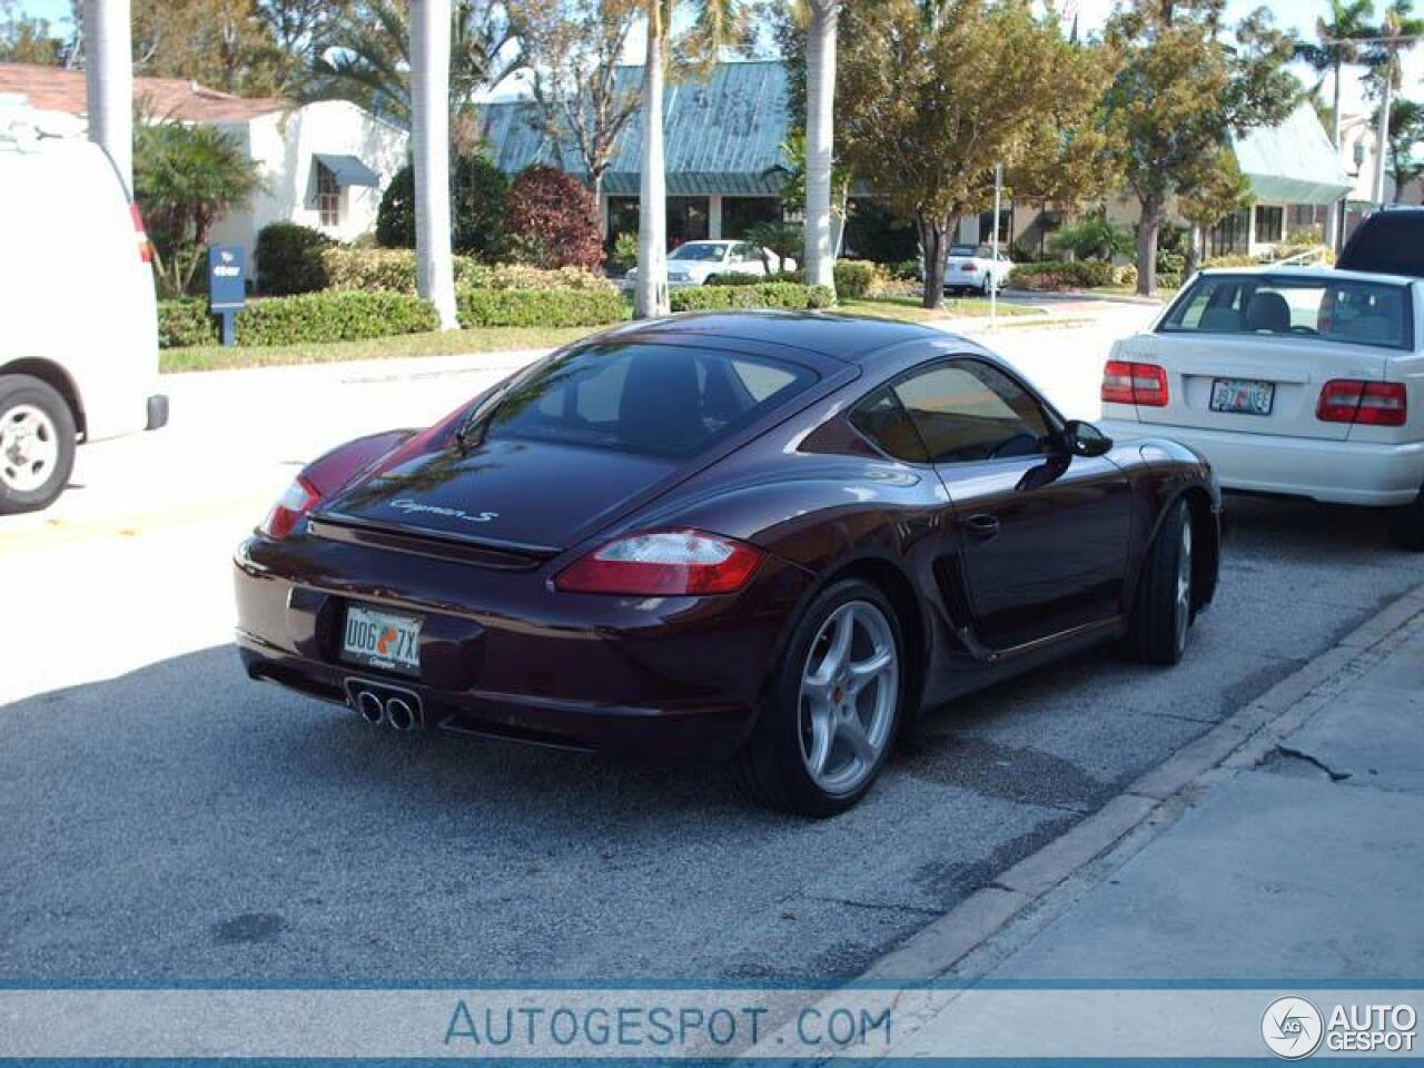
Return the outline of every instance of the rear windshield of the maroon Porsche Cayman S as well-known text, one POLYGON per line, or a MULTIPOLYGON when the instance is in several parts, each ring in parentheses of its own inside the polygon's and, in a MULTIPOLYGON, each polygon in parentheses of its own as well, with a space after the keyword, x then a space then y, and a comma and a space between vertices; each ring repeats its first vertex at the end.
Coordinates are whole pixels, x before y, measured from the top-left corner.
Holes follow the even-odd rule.
POLYGON ((551 360, 488 416, 484 439, 681 459, 816 380, 802 366, 671 345, 598 345, 551 360))

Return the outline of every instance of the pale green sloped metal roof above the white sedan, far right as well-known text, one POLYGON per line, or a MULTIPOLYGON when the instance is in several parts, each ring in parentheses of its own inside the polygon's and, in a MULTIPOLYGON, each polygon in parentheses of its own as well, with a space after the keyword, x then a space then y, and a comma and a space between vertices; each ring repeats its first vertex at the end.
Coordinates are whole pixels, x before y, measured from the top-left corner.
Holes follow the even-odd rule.
POLYGON ((1333 204, 1354 188, 1310 104, 1297 107, 1279 127, 1233 138, 1232 150, 1257 201, 1333 204))

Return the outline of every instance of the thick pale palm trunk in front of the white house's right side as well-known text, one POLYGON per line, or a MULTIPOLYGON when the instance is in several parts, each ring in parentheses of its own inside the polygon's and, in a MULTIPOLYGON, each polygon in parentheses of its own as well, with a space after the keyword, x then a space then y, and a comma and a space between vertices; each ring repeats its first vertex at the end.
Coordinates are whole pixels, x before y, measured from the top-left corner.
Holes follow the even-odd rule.
POLYGON ((450 256, 450 0, 410 0, 410 125, 416 168, 416 282, 441 330, 456 330, 450 256))

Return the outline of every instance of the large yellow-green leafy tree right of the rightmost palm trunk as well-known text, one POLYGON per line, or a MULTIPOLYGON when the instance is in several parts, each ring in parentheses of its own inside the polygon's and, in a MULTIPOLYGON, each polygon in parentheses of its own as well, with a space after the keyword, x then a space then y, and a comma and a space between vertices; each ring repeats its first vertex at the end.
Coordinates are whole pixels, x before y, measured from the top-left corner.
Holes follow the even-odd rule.
POLYGON ((1071 184, 1104 181, 1087 167, 1044 165, 1101 150, 1094 115, 1111 70, 1065 38, 1052 10, 1040 14, 1028 0, 933 9, 883 0, 852 6, 842 20, 842 154, 916 221, 926 308, 941 306, 948 244, 965 214, 993 204, 997 165, 1022 197, 1074 199, 1087 191, 1071 184))

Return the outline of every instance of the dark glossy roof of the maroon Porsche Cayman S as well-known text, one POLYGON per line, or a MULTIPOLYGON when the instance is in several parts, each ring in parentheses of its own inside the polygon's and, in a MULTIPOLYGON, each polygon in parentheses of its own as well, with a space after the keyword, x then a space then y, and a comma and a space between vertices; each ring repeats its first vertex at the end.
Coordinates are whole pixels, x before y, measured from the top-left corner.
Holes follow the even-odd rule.
POLYGON ((601 339, 656 340, 721 337, 802 349, 846 363, 862 363, 890 346, 917 339, 946 340, 954 335, 894 319, 871 319, 834 312, 693 312, 646 319, 598 335, 601 339))

